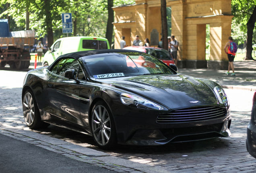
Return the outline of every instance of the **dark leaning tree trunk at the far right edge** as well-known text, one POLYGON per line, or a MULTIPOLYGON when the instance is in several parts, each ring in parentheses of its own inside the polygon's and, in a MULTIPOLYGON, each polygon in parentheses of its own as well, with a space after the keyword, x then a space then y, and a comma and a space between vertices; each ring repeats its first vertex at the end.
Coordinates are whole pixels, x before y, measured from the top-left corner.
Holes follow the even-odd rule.
POLYGON ((252 35, 256 22, 256 6, 252 12, 252 16, 247 22, 247 45, 246 45, 246 58, 245 60, 253 60, 252 58, 252 35))

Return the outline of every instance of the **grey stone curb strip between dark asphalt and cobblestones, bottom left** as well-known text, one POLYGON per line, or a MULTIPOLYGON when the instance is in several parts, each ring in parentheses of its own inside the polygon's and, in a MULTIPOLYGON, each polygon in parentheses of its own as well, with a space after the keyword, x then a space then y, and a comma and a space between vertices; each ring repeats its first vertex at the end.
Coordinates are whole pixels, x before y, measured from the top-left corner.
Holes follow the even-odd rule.
POLYGON ((126 159, 111 156, 110 154, 82 147, 42 135, 33 131, 26 131, 0 123, 0 134, 18 139, 49 151, 64 155, 98 167, 119 173, 170 173, 161 167, 153 167, 147 164, 136 163, 126 159))

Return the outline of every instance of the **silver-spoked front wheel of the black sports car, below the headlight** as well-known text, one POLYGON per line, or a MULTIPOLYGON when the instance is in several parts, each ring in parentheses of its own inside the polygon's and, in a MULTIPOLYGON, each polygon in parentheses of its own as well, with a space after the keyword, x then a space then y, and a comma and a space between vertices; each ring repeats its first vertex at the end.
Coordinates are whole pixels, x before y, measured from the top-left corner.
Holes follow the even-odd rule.
POLYGON ((117 145, 116 127, 107 104, 98 101, 91 112, 91 131, 94 141, 101 149, 112 149, 117 145))

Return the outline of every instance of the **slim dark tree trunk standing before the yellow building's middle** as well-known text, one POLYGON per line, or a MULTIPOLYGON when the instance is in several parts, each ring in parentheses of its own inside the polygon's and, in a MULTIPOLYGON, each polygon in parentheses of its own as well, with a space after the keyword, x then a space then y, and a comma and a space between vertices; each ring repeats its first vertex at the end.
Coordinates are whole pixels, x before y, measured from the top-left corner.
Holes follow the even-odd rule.
POLYGON ((168 50, 168 30, 167 30, 167 14, 166 14, 166 0, 161 0, 161 19, 162 19, 162 37, 163 48, 168 50))

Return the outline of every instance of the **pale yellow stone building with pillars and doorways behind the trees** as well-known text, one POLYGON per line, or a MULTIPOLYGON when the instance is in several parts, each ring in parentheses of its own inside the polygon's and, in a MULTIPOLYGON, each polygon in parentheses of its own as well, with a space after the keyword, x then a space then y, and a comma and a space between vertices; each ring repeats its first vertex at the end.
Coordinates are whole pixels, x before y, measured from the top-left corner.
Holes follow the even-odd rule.
MULTIPOLYGON (((145 38, 156 29, 161 38, 161 1, 135 0, 136 4, 114 7, 115 48, 122 36, 132 45, 135 35, 145 38)), ((171 7, 171 34, 179 42, 178 66, 226 69, 224 46, 231 36, 231 0, 167 0, 171 7), (210 25, 210 60, 205 60, 206 24, 210 25)), ((154 45, 151 45, 154 46, 154 45)), ((157 45, 155 45, 157 46, 157 45)))

